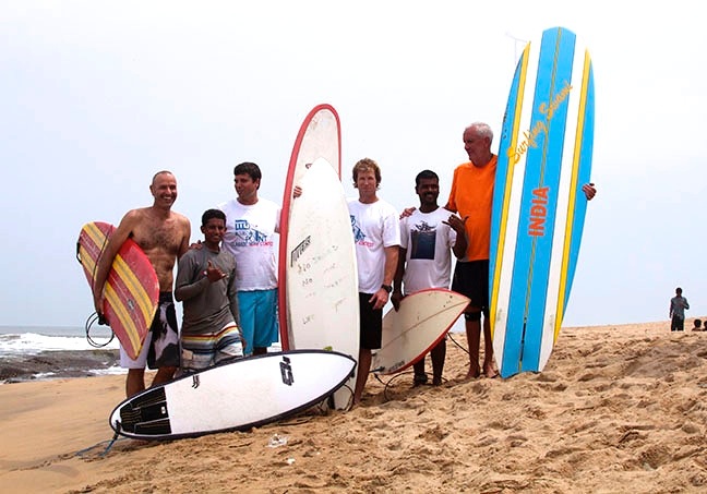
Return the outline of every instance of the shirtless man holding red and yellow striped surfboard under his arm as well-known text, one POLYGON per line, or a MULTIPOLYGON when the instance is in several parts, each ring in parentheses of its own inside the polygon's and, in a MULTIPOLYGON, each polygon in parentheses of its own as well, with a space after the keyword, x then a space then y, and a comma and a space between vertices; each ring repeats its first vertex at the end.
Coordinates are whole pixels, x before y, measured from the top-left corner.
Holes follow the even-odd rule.
POLYGON ((132 360, 120 348, 120 365, 128 369, 125 395, 145 389, 145 365, 157 369, 153 386, 170 381, 179 366, 179 333, 172 301, 175 263, 189 249, 191 226, 185 216, 171 210, 177 201, 177 179, 170 171, 158 171, 149 185, 154 203, 129 210, 110 236, 96 269, 94 306, 103 317, 104 288, 110 266, 125 240, 132 238, 145 252, 159 280, 159 306, 143 349, 132 360))

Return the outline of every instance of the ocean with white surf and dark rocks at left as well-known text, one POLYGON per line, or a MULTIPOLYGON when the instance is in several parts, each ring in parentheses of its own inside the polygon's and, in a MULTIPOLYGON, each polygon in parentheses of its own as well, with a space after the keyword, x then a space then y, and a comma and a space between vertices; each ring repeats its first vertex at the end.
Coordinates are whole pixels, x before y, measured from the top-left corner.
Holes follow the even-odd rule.
POLYGON ((0 326, 0 383, 123 374, 118 340, 110 329, 83 327, 0 326))

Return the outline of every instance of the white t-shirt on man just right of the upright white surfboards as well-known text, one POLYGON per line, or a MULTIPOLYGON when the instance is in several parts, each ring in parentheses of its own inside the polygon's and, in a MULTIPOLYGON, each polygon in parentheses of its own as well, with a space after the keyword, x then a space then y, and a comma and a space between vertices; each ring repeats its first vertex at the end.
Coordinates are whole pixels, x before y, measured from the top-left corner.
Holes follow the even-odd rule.
POLYGON ((351 230, 356 243, 359 292, 375 293, 385 275, 385 248, 400 244, 398 214, 385 201, 361 203, 348 200, 351 230))

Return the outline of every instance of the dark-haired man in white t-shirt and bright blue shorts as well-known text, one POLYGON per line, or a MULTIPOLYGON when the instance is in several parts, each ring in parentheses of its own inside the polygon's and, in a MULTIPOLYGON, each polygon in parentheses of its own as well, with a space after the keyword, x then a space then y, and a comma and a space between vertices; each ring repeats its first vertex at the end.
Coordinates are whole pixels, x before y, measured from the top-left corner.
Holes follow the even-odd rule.
POLYGON ((259 197, 262 173, 254 162, 233 168, 238 197, 218 205, 226 214, 223 246, 236 257, 236 288, 243 353, 263 354, 279 338, 277 322, 277 267, 275 233, 280 208, 259 197))

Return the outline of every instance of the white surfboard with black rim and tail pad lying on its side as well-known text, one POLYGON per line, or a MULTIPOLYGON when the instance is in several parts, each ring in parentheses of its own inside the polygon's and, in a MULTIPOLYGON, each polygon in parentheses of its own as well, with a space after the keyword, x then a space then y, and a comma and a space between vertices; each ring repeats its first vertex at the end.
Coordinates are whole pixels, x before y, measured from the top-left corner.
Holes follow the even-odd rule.
POLYGON ((121 402, 110 426, 135 439, 245 430, 317 403, 349 378, 356 361, 324 350, 239 359, 146 389, 121 402))

